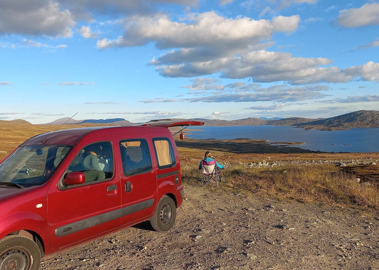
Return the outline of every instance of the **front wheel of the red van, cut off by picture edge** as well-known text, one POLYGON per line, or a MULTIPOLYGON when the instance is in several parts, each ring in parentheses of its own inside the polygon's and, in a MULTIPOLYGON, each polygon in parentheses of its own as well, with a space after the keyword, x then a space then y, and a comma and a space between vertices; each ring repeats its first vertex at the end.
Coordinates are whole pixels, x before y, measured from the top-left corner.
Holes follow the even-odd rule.
POLYGON ((38 270, 41 251, 37 244, 22 235, 8 235, 0 240, 0 270, 38 270))

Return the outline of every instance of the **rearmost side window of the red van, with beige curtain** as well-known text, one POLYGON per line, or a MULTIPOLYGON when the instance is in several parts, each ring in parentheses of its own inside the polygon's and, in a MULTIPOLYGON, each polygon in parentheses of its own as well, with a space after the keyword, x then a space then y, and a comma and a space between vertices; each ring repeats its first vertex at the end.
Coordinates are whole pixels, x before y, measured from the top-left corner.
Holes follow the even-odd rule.
POLYGON ((158 160, 158 168, 165 169, 175 166, 174 148, 168 138, 153 138, 155 156, 158 160))

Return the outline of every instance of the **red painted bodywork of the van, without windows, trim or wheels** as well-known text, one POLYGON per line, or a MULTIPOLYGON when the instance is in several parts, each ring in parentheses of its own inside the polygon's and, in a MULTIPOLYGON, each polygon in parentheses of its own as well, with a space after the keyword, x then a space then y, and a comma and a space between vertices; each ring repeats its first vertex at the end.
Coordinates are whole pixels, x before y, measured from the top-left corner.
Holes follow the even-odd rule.
MULTIPOLYGON (((99 238, 103 235, 148 220, 159 199, 163 195, 171 196, 180 207, 183 190, 180 174, 180 161, 174 138, 171 132, 162 127, 202 125, 196 121, 161 121, 149 122, 148 126, 131 127, 89 127, 80 129, 59 130, 30 138, 20 146, 36 144, 74 145, 55 173, 46 183, 30 188, 0 188, 0 239, 19 230, 27 230, 38 235, 44 246, 45 256, 66 250, 81 243, 99 238), (158 127, 160 126, 160 127, 158 127), (152 138, 166 137, 174 147, 176 165, 159 170, 155 158, 152 138), (47 139, 46 139, 47 138, 47 139), (125 177, 122 171, 119 141, 128 138, 145 138, 149 144, 153 169, 151 173, 125 177), (114 173, 111 179, 89 182, 60 190, 58 182, 75 157, 84 146, 98 142, 110 141, 114 151, 114 173), (175 184, 175 175, 157 179, 157 174, 179 171, 179 183, 175 184), (125 193, 125 182, 132 182, 132 191, 125 193), (107 187, 116 185, 116 190, 107 191, 107 187), (107 213, 121 207, 154 199, 147 209, 115 218, 96 226, 77 231, 62 237, 55 236, 55 229, 85 218, 107 213), (36 207, 42 204, 42 207, 36 207)), ((78 176, 80 178, 80 176, 78 176)))

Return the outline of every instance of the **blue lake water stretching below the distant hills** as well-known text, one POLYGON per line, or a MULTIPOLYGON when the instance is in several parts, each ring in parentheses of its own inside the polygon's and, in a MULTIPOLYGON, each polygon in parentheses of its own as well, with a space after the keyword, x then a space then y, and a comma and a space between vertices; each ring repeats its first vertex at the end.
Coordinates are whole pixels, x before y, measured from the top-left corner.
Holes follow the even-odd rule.
POLYGON ((290 145, 312 151, 325 152, 379 152, 379 128, 354 128, 351 130, 304 130, 289 126, 236 126, 236 127, 188 127, 186 137, 194 139, 230 140, 250 138, 254 140, 299 141, 305 144, 290 145), (334 144, 334 145, 332 145, 334 144), (344 145, 350 144, 350 145, 344 145))

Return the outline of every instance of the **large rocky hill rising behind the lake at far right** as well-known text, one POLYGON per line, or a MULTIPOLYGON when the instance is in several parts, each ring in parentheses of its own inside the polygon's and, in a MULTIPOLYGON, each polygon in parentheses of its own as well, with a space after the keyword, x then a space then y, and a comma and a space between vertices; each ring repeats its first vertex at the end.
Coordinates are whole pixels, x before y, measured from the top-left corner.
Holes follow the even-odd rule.
POLYGON ((379 111, 360 110, 301 125, 311 129, 350 129, 353 127, 379 127, 379 111))

